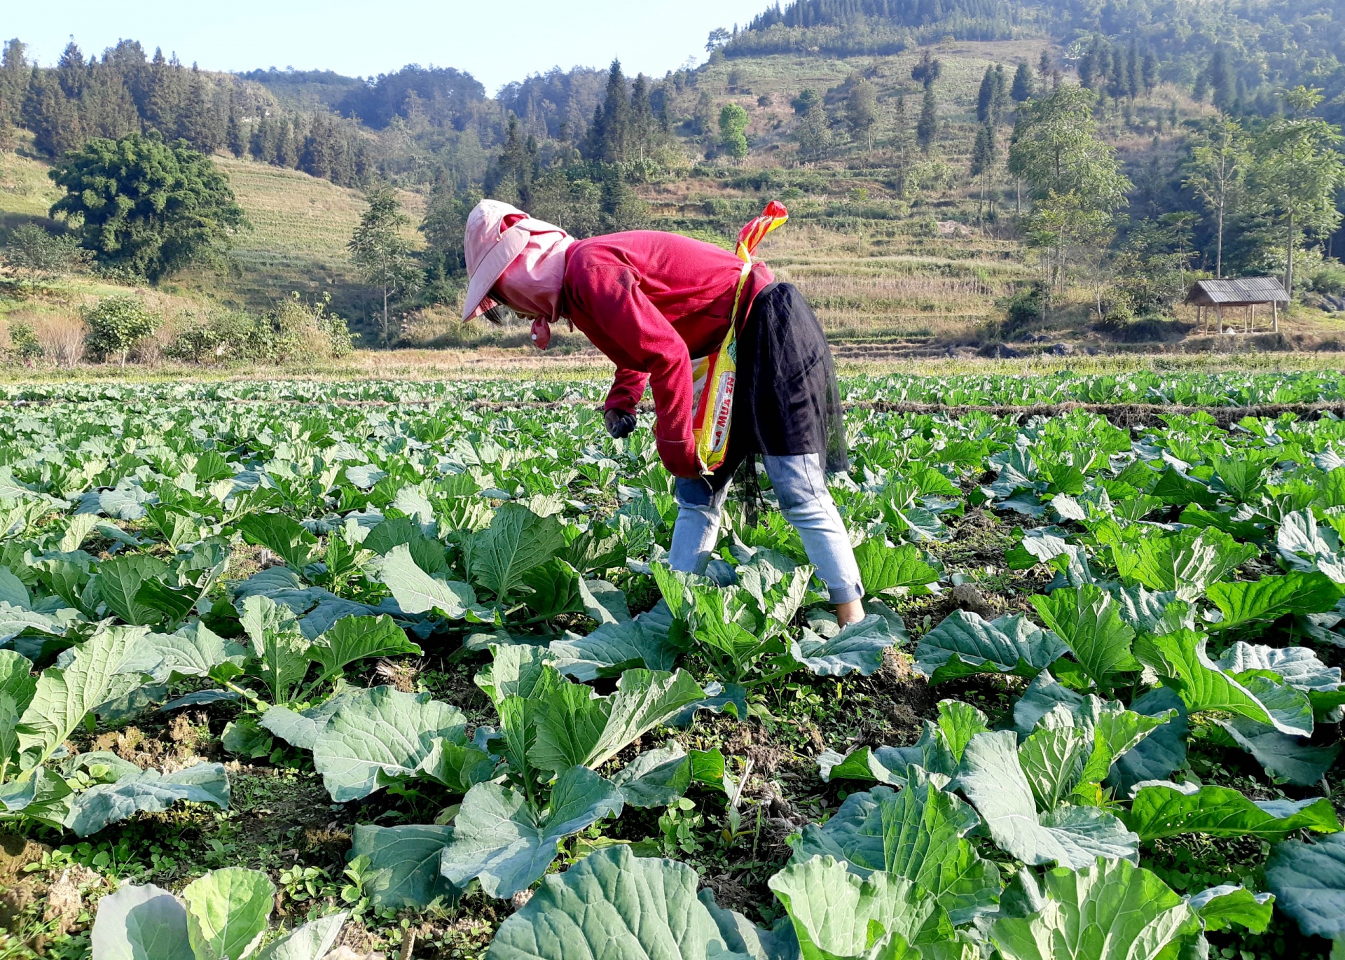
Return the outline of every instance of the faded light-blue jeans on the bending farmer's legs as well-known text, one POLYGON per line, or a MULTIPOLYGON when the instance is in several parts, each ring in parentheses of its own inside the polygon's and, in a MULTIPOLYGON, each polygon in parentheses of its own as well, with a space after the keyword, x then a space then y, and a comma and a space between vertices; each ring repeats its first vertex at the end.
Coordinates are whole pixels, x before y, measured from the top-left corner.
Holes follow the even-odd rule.
MULTIPOLYGON (((808 561, 830 590, 831 602, 859 600, 863 596, 859 566, 854 562, 850 536, 837 512, 831 491, 827 489, 820 457, 816 453, 798 453, 787 457, 761 456, 761 461, 780 502, 780 512, 799 531, 808 561)), ((705 571, 710 553, 720 541, 720 519, 728 496, 728 484, 712 493, 703 480, 678 477, 678 515, 672 527, 672 549, 668 551, 668 563, 674 570, 705 571)))

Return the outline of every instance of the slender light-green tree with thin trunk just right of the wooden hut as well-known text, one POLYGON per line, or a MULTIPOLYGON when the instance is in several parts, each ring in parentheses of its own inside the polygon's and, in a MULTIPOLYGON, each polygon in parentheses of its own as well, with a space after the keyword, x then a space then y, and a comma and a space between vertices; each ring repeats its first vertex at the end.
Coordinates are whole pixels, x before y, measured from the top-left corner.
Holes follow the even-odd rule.
POLYGON ((1298 86, 1284 94, 1290 116, 1280 117, 1256 138, 1254 186, 1264 208, 1284 230, 1284 289, 1294 296, 1294 251, 1298 235, 1310 229, 1332 233, 1340 226, 1336 191, 1345 184, 1340 128, 1310 116, 1322 102, 1321 90, 1298 86))

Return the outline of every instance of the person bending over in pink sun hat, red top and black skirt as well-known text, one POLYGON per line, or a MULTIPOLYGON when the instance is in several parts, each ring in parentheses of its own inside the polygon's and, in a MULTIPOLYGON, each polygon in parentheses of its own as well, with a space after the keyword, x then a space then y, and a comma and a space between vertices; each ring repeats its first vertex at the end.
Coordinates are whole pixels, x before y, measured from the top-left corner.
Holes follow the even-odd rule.
POLYGON ((574 239, 499 200, 472 210, 464 249, 464 320, 503 304, 533 320, 533 343, 545 350, 550 324, 565 319, 616 364, 604 405, 612 437, 635 429, 636 405, 652 389, 659 458, 677 477, 674 570, 705 571, 729 479, 759 454, 837 620, 863 618, 859 567, 826 484, 829 472, 849 468, 835 368, 792 284, 713 243, 655 230, 574 239), (693 436, 693 358, 724 342, 734 301, 737 385, 724 461, 710 471, 693 436))

